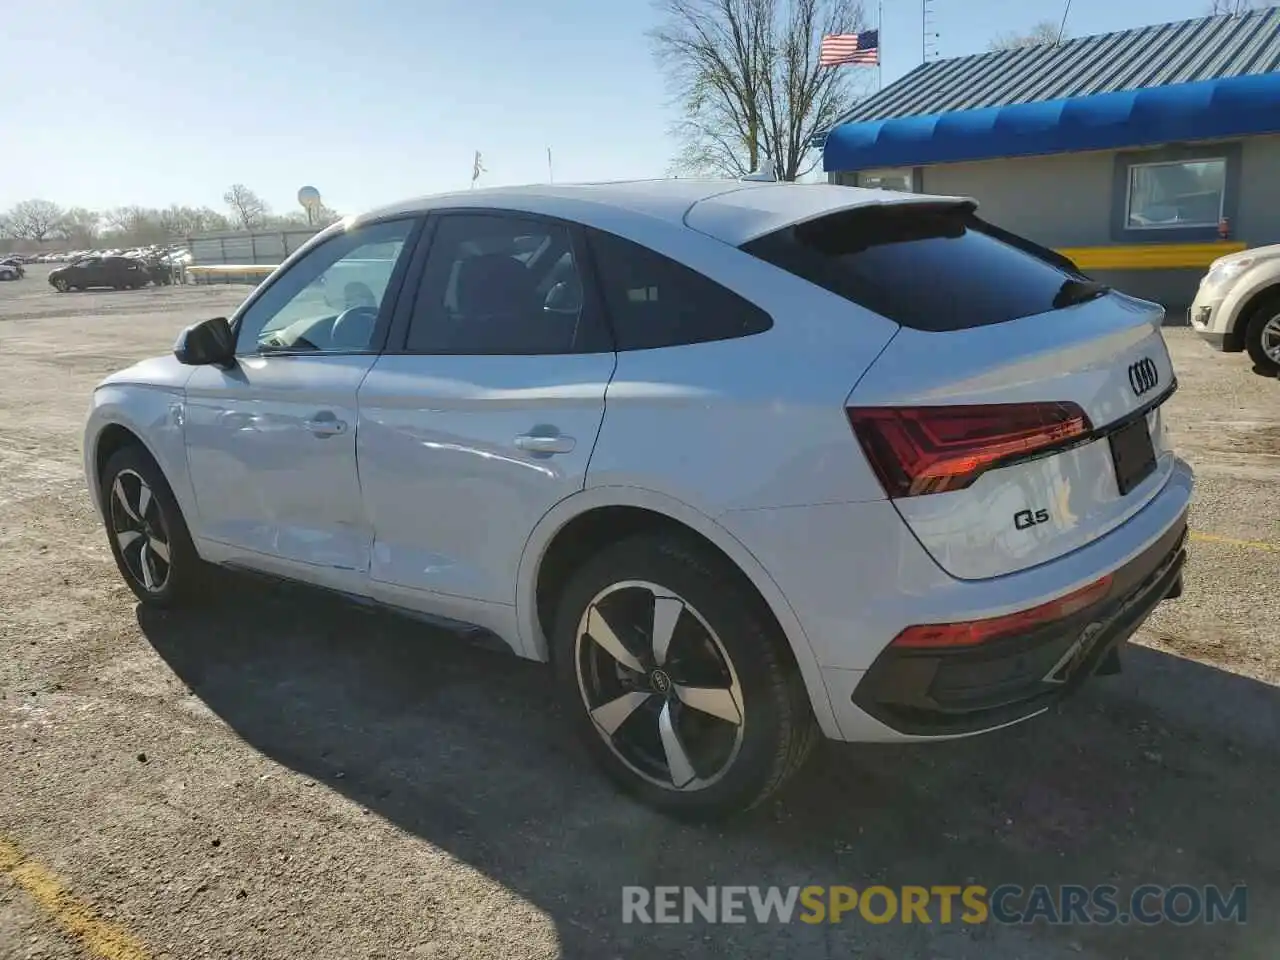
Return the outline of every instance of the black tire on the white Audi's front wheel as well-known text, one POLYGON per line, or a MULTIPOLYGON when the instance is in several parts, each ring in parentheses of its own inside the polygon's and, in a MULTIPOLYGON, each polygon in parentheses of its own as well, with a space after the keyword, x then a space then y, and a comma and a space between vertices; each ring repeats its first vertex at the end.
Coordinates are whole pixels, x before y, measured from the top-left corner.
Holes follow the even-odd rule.
POLYGON ((108 458, 101 476, 101 502, 111 556, 134 595, 142 603, 155 607, 177 607, 196 599, 205 564, 191 541, 191 532, 169 483, 146 449, 129 444, 108 458), (115 492, 118 480, 128 509, 122 506, 115 492), (150 503, 143 511, 138 511, 140 499, 133 498, 138 490, 138 480, 150 490, 150 503), (129 538, 128 534, 138 535, 129 538), (142 552, 155 544, 166 547, 168 559, 155 547, 148 554, 150 562, 147 561, 142 552), (146 573, 152 577, 151 585, 146 582, 146 573))

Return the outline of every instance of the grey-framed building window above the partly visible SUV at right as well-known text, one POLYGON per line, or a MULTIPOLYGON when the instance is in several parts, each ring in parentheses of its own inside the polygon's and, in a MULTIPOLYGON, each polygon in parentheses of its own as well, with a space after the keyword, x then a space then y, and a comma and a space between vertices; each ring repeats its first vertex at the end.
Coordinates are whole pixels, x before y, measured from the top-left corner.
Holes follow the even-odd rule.
POLYGON ((1217 227, 1226 200, 1226 157, 1132 164, 1125 229, 1217 227))

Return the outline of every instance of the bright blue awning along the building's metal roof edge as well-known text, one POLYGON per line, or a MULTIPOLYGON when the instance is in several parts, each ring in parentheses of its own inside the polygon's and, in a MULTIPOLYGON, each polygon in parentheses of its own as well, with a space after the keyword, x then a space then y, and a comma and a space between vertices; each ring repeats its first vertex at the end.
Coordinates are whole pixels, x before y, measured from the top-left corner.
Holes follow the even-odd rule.
POLYGON ((1266 73, 846 123, 827 134, 822 165, 827 172, 923 166, 1277 132, 1280 73, 1266 73))

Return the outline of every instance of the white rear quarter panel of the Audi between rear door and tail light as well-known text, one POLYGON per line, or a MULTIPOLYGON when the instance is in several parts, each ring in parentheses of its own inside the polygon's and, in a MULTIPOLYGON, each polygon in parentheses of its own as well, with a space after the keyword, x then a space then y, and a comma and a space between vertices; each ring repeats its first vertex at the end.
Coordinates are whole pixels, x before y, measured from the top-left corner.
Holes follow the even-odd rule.
POLYGON ((883 498, 844 401, 897 325, 694 230, 630 227, 616 232, 759 305, 773 328, 620 352, 588 486, 652 489, 708 516, 883 498))

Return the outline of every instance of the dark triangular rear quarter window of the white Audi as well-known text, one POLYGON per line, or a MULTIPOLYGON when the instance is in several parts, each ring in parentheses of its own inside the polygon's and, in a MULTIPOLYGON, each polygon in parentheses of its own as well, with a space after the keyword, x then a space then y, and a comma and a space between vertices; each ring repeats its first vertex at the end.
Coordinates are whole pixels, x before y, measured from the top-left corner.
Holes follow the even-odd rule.
POLYGON ((618 349, 652 349, 764 333, 760 307, 639 243, 588 232, 618 349))

